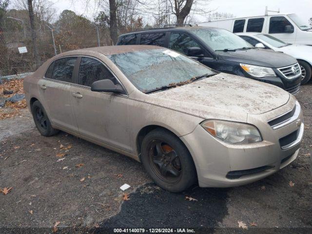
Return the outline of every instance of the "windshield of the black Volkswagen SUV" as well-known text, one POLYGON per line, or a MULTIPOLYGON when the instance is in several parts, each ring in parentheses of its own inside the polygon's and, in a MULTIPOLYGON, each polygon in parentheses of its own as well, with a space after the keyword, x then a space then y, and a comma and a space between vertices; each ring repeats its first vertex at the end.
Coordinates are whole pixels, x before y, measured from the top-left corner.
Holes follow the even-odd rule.
POLYGON ((215 51, 254 48, 246 40, 224 29, 202 28, 192 32, 215 51))

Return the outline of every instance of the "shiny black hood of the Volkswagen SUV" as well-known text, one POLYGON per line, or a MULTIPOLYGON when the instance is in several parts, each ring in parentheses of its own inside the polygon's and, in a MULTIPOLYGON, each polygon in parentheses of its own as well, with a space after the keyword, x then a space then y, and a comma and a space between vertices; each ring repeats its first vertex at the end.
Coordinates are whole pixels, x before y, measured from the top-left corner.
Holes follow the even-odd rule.
POLYGON ((286 67, 297 62, 289 55, 266 49, 217 51, 216 53, 224 60, 272 68, 286 67))

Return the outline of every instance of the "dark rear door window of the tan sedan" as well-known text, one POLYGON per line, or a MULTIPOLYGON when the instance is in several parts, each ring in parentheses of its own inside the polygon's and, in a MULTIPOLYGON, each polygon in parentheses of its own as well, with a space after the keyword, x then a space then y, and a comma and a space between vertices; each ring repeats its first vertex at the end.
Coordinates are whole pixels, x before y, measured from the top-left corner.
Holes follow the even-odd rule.
POLYGON ((73 70, 77 57, 58 59, 54 62, 52 79, 72 82, 73 70))

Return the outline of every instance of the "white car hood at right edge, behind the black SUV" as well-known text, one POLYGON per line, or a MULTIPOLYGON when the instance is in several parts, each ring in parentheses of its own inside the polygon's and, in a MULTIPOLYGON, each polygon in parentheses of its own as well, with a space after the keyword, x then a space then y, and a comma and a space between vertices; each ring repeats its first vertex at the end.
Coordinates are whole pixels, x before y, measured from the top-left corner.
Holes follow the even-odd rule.
POLYGON ((292 44, 276 49, 296 59, 306 59, 312 63, 312 46, 292 44))

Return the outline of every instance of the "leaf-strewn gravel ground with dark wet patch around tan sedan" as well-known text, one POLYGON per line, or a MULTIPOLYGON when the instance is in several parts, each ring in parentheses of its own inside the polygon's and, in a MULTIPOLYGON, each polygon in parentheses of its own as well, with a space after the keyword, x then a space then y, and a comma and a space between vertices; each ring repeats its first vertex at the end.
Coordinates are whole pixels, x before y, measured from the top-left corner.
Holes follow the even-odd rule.
POLYGON ((233 233, 238 230, 227 228, 238 228, 237 222, 243 221, 247 226, 254 222, 257 226, 248 231, 256 233, 312 233, 311 91, 312 83, 297 95, 306 127, 299 156, 291 165, 249 185, 194 186, 179 194, 157 187, 131 158, 66 133, 40 136, 28 110, 23 110, 18 117, 0 121, 0 188, 13 187, 7 195, 0 194, 0 228, 8 228, 8 233, 19 227, 52 232, 60 222, 59 233, 63 227, 68 227, 66 233, 107 233, 106 228, 121 227, 233 233), (72 147, 65 152, 61 144, 72 147), (60 157, 65 159, 58 162, 57 154, 65 154, 60 157), (119 189, 124 183, 131 185, 126 201, 119 189))

